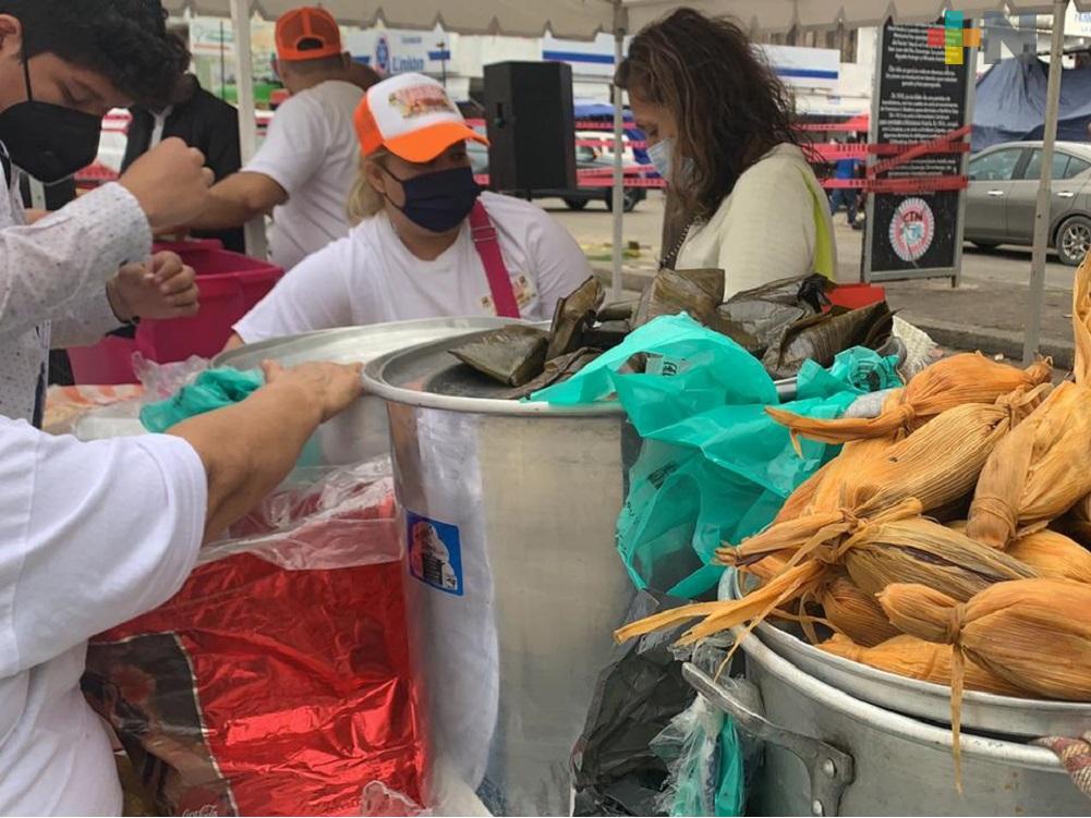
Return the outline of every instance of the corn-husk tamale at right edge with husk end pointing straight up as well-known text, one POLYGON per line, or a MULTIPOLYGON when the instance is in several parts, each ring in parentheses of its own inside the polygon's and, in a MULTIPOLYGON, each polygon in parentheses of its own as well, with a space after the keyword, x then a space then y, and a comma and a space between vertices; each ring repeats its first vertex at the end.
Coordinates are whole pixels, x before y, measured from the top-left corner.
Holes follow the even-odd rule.
POLYGON ((967 532, 1003 549, 1091 494, 1091 257, 1072 286, 1076 383, 1063 383, 997 445, 982 470, 967 532))

